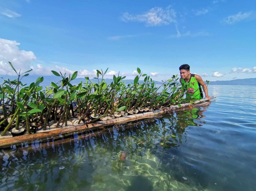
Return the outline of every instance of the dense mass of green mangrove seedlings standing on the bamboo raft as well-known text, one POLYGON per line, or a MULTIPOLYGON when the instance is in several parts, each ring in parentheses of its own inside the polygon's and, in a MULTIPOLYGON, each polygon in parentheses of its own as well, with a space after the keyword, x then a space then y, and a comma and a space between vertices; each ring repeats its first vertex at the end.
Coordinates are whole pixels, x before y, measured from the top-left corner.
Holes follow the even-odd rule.
POLYGON ((177 75, 157 88, 152 78, 143 74, 140 68, 137 68, 139 75, 130 84, 125 84, 122 81, 125 76, 119 74, 113 75, 113 81, 107 84, 104 80, 107 69, 104 72, 97 70, 96 83, 85 77, 85 82, 78 85, 71 84, 77 71, 71 76, 52 71, 60 80, 43 88, 40 86, 43 77, 29 85, 21 82, 32 69, 21 73, 11 62, 9 64, 17 79, 6 79, 0 84, 2 136, 10 128, 16 131, 25 128, 28 133, 35 133, 39 128, 47 130, 92 123, 190 101, 183 98, 184 87, 178 83, 177 75), (142 83, 139 83, 140 78, 144 78, 142 83))

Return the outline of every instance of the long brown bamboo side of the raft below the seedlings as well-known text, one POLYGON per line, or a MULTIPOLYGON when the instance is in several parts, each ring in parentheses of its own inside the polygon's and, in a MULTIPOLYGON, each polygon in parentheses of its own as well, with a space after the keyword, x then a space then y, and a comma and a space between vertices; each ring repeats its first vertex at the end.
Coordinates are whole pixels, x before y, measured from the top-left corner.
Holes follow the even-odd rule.
MULTIPOLYGON (((214 96, 213 98, 215 98, 214 96)), ((77 132, 82 132, 82 131, 88 131, 92 130, 98 127, 104 127, 104 126, 109 126, 113 124, 122 124, 125 122, 130 122, 130 121, 135 121, 135 120, 140 120, 140 119, 145 119, 145 118, 153 118, 157 117, 159 115, 163 115, 165 113, 168 113, 170 111, 176 110, 176 109, 181 109, 181 108, 193 108, 193 107, 201 107, 201 106, 207 106, 210 105, 209 102, 207 102, 209 99, 201 99, 195 101, 193 104, 191 103, 185 103, 185 104, 180 104, 174 105, 171 107, 155 110, 152 112, 145 112, 145 113, 140 113, 140 114, 134 114, 134 115, 129 115, 129 116, 123 116, 123 117, 118 117, 114 119, 109 119, 106 121, 99 121, 95 123, 90 123, 90 124, 84 124, 84 125, 76 125, 72 127, 66 127, 66 128, 61 128, 61 129, 53 129, 41 133, 35 133, 35 134, 27 134, 27 135, 22 135, 22 136, 16 136, 16 137, 11 137, 11 138, 3 138, 0 139, 0 147, 1 148, 6 148, 10 147, 13 144, 17 143, 22 143, 22 142, 27 142, 27 141, 45 141, 49 139, 54 139, 58 137, 63 137, 65 134, 70 134, 70 133, 77 133, 77 132)))

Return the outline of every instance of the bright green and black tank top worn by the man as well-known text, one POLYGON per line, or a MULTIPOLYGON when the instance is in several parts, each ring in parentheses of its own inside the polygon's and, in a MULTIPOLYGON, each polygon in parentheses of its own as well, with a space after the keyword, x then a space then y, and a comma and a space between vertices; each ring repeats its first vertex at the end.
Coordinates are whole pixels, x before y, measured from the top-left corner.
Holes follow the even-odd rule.
MULTIPOLYGON (((186 82, 184 79, 181 79, 181 85, 185 86, 186 82)), ((190 80, 188 82, 186 97, 191 99, 202 99, 203 92, 201 85, 197 82, 195 74, 190 75, 190 80)))

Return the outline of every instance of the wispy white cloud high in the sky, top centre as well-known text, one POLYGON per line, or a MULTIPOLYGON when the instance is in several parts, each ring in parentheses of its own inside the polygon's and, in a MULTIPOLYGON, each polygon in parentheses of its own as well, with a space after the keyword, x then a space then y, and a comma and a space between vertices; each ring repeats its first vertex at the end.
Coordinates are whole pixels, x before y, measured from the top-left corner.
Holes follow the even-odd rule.
POLYGON ((170 23, 176 23, 176 12, 169 5, 165 9, 162 7, 154 7, 148 12, 140 15, 131 15, 129 13, 124 13, 122 16, 122 21, 137 21, 141 23, 146 23, 148 27, 155 27, 161 25, 169 25, 170 23))

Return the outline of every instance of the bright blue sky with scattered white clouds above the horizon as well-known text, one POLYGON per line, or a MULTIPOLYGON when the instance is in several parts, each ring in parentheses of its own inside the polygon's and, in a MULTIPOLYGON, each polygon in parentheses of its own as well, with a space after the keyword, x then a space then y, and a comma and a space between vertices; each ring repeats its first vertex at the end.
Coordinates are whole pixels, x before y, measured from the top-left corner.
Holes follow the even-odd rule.
POLYGON ((0 74, 106 69, 155 80, 181 64, 207 80, 256 77, 256 1, 0 0, 0 74))

